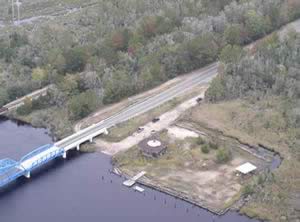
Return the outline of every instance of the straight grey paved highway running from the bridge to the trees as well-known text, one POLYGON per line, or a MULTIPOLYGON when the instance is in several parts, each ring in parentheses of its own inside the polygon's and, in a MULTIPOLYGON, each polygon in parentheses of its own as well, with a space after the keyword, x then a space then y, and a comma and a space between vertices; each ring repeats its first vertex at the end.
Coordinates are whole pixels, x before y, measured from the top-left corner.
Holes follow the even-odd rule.
POLYGON ((108 129, 116 124, 125 122, 126 120, 129 120, 137 115, 158 107, 167 101, 170 101, 171 99, 183 94, 195 86, 208 83, 217 75, 217 67, 218 64, 214 63, 204 69, 198 70, 197 75, 192 75, 185 81, 180 82, 155 96, 149 97, 142 102, 133 104, 123 111, 101 121, 100 123, 94 124, 61 141, 58 141, 55 145, 65 148, 72 144, 76 144, 76 141, 84 139, 95 132, 108 129))

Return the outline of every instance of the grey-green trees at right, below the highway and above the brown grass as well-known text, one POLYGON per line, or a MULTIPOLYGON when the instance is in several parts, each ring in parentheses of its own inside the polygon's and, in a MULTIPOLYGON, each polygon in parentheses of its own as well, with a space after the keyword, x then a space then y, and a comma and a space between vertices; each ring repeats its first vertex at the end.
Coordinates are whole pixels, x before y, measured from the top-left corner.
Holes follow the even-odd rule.
POLYGON ((256 46, 254 55, 242 53, 235 62, 231 62, 228 54, 239 54, 234 53, 239 50, 225 47, 221 57, 227 64, 212 81, 206 92, 207 99, 213 102, 244 97, 259 100, 268 94, 298 100, 299 41, 297 34, 289 35, 285 40, 271 35, 256 46))

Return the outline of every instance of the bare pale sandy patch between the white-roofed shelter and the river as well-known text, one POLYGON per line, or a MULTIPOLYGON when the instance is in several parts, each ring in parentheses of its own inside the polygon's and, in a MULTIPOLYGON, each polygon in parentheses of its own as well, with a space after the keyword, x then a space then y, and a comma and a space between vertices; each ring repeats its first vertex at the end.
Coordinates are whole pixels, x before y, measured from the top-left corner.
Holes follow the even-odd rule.
POLYGON ((193 192, 194 198, 207 206, 222 209, 224 204, 232 199, 240 189, 235 176, 235 168, 246 160, 236 158, 230 163, 212 167, 206 171, 194 171, 189 169, 176 169, 168 171, 167 175, 156 178, 159 182, 170 185, 180 181, 181 191, 193 192))

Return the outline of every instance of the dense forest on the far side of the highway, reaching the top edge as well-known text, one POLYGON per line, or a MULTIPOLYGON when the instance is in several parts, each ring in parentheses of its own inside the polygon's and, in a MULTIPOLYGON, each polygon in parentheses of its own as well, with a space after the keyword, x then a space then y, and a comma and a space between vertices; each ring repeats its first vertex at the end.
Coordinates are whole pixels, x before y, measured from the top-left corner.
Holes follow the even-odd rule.
POLYGON ((63 136, 103 105, 228 59, 226 53, 235 60, 243 45, 298 17, 297 0, 98 0, 1 32, 0 105, 51 85, 47 99, 28 100, 17 113, 34 112, 32 122, 63 136))

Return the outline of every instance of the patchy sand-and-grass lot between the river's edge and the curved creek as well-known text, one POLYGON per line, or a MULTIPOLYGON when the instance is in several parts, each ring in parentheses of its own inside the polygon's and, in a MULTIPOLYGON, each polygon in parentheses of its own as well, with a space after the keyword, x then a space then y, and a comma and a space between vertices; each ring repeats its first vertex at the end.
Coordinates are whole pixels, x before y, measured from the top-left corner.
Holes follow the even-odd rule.
MULTIPOLYGON (((217 150, 204 154, 196 143, 196 131, 171 126, 161 132, 161 140, 168 143, 167 153, 158 159, 142 156, 137 146, 114 157, 116 166, 127 175, 147 172, 147 183, 163 191, 187 198, 202 207, 220 213, 238 200, 246 180, 236 175, 235 168, 250 161, 262 169, 262 160, 241 151, 228 139, 226 146, 232 159, 226 164, 216 161, 217 150), (181 133, 182 132, 182 133, 181 133)), ((210 140, 212 138, 206 138, 210 140)))

